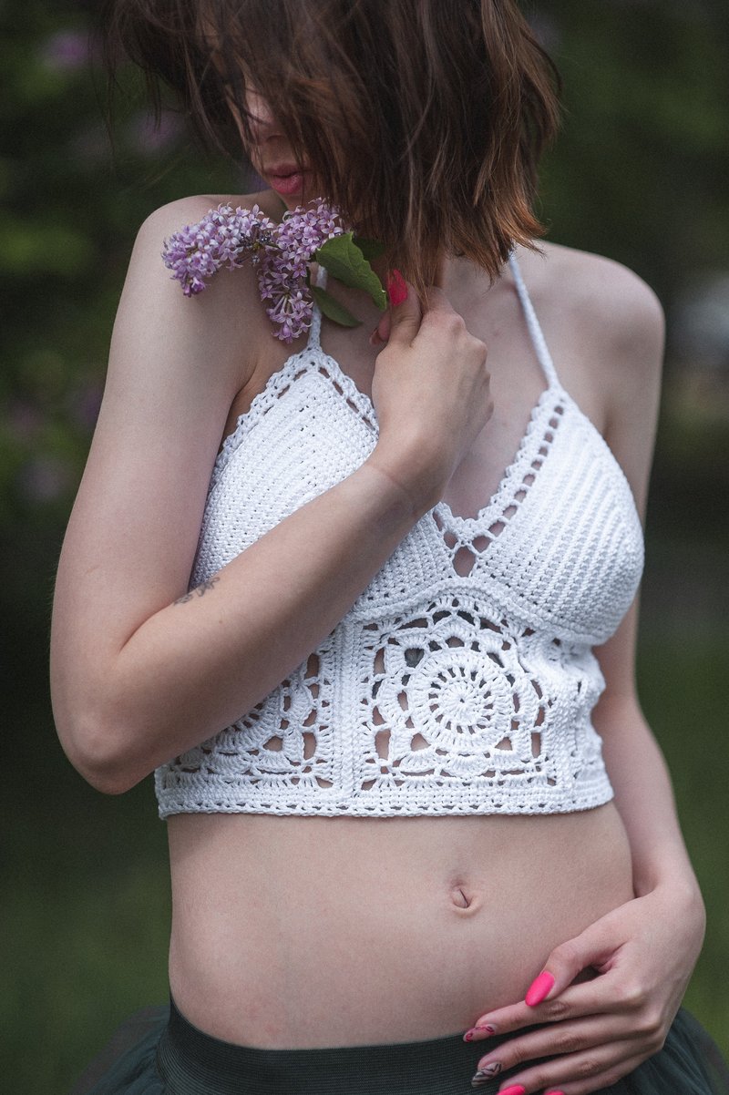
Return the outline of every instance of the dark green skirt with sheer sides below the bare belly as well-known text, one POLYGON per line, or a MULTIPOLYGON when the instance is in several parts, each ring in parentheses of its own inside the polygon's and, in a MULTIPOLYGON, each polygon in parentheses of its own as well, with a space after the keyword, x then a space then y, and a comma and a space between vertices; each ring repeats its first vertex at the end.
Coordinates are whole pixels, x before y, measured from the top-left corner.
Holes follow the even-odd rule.
MULTIPOLYGON (((71 1095, 496 1095, 504 1074, 474 1088, 476 1062, 504 1039, 462 1035, 385 1046, 255 1049, 211 1038, 171 1002, 119 1027, 71 1095)), ((706 1031, 679 1012, 666 1046, 602 1095, 729 1095, 706 1031)))

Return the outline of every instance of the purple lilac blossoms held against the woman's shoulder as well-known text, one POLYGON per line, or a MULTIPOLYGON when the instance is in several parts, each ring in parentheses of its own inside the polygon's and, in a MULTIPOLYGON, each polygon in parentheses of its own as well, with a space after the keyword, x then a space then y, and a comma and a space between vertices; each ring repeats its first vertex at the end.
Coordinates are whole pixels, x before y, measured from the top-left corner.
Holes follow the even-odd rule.
POLYGON ((251 257, 266 314, 278 325, 274 334, 290 343, 311 326, 309 263, 317 247, 344 231, 338 210, 321 198, 286 214, 280 224, 257 205, 235 210, 221 205, 165 240, 162 257, 186 297, 201 292, 217 270, 234 269, 251 257))

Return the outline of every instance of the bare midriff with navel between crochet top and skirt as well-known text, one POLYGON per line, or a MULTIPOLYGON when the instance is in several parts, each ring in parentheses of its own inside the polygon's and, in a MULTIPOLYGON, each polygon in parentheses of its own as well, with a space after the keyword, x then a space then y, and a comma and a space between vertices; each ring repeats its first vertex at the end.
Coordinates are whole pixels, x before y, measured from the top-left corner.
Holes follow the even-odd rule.
POLYGON ((169 820, 172 995, 261 1048, 415 1041, 523 999, 633 896, 615 806, 548 817, 169 820))

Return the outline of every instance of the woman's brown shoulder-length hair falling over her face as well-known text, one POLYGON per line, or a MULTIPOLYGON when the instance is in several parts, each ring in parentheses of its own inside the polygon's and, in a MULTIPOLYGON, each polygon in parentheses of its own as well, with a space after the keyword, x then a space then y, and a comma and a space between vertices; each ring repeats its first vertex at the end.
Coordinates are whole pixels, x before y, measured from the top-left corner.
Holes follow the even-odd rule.
POLYGON ((238 155, 245 72, 322 195, 418 291, 443 247, 496 277, 542 234, 559 81, 514 0, 107 0, 104 23, 112 78, 126 55, 158 114, 166 84, 238 155))

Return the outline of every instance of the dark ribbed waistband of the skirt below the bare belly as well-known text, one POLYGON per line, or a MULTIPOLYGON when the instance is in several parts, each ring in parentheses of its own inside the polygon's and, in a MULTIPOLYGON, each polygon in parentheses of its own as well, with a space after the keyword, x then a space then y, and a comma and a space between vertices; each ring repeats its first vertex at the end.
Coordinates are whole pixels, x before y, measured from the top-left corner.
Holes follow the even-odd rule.
POLYGON ((477 1061, 502 1041, 464 1042, 462 1034, 426 1041, 326 1049, 257 1049, 193 1026, 170 1001, 157 1067, 170 1095, 495 1095, 474 1088, 477 1061))

